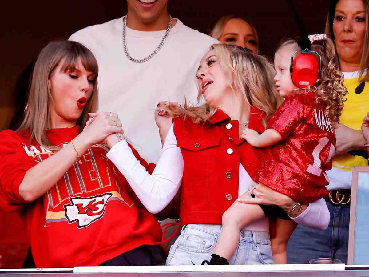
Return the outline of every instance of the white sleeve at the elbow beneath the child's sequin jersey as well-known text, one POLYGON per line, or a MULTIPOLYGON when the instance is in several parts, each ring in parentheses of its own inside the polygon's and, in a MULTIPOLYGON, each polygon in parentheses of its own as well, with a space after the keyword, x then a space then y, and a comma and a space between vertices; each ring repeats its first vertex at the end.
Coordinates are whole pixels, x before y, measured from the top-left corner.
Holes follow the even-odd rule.
POLYGON ((292 220, 308 228, 325 230, 328 228, 330 218, 327 204, 323 198, 320 198, 310 203, 305 211, 292 220))

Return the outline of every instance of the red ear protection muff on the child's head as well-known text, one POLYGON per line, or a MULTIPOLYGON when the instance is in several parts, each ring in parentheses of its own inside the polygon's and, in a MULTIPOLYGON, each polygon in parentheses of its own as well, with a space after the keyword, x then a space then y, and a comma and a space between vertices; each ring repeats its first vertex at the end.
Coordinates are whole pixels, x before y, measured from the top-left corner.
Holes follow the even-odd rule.
POLYGON ((318 59, 313 55, 313 52, 315 51, 311 51, 306 48, 304 51, 294 52, 291 57, 291 79, 294 85, 298 88, 306 88, 309 85, 314 85, 317 79, 320 78, 321 57, 317 52, 315 52, 319 56, 318 61, 318 59), (301 54, 297 55, 296 58, 293 58, 297 52, 301 52, 301 54))

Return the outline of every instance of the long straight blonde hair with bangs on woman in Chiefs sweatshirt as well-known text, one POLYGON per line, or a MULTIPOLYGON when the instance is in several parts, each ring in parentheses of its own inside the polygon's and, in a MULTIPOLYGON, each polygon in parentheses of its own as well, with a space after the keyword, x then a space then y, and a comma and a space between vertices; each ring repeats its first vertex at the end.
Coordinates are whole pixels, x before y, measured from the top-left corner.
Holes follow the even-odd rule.
POLYGON ((51 143, 45 132, 51 122, 49 109, 53 101, 47 81, 60 62, 63 62, 61 71, 73 71, 77 67, 79 58, 85 69, 95 75, 91 97, 77 120, 80 131, 82 131, 83 126, 89 119, 88 113, 96 112, 98 108, 97 76, 99 75, 99 67, 92 52, 79 42, 68 40, 54 41, 42 49, 35 64, 28 93, 27 108, 23 121, 16 131, 22 133, 30 130, 30 141, 35 139, 40 146, 49 150, 57 151, 60 148, 51 143))

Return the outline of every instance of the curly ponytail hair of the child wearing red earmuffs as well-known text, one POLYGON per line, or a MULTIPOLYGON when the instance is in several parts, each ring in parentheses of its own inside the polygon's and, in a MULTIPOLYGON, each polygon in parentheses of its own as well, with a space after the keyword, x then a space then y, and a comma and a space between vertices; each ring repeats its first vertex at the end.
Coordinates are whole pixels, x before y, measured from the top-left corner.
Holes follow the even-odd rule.
MULTIPOLYGON (((301 51, 296 40, 287 39, 279 44, 276 53, 286 45, 291 44, 296 45, 296 51, 301 51)), ((332 122, 339 123, 339 117, 342 114, 344 102, 346 101, 345 95, 348 92, 344 86, 344 76, 337 64, 334 42, 330 38, 324 41, 314 41, 314 44, 311 45, 311 50, 317 52, 321 57, 320 78, 313 86, 308 86, 306 89, 296 89, 297 93, 303 93, 307 90, 315 92, 316 102, 323 101, 324 103, 324 113, 332 122)), ((315 53, 313 54, 319 60, 319 57, 315 53)))

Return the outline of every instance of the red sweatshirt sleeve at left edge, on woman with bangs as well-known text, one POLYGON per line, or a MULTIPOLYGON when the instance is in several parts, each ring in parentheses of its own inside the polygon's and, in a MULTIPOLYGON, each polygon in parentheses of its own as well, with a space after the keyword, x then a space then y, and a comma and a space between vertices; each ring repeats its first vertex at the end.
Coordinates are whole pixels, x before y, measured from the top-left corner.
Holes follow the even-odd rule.
POLYGON ((25 204, 19 186, 26 172, 37 163, 22 145, 22 139, 11 130, 0 133, 0 206, 11 212, 25 204))

